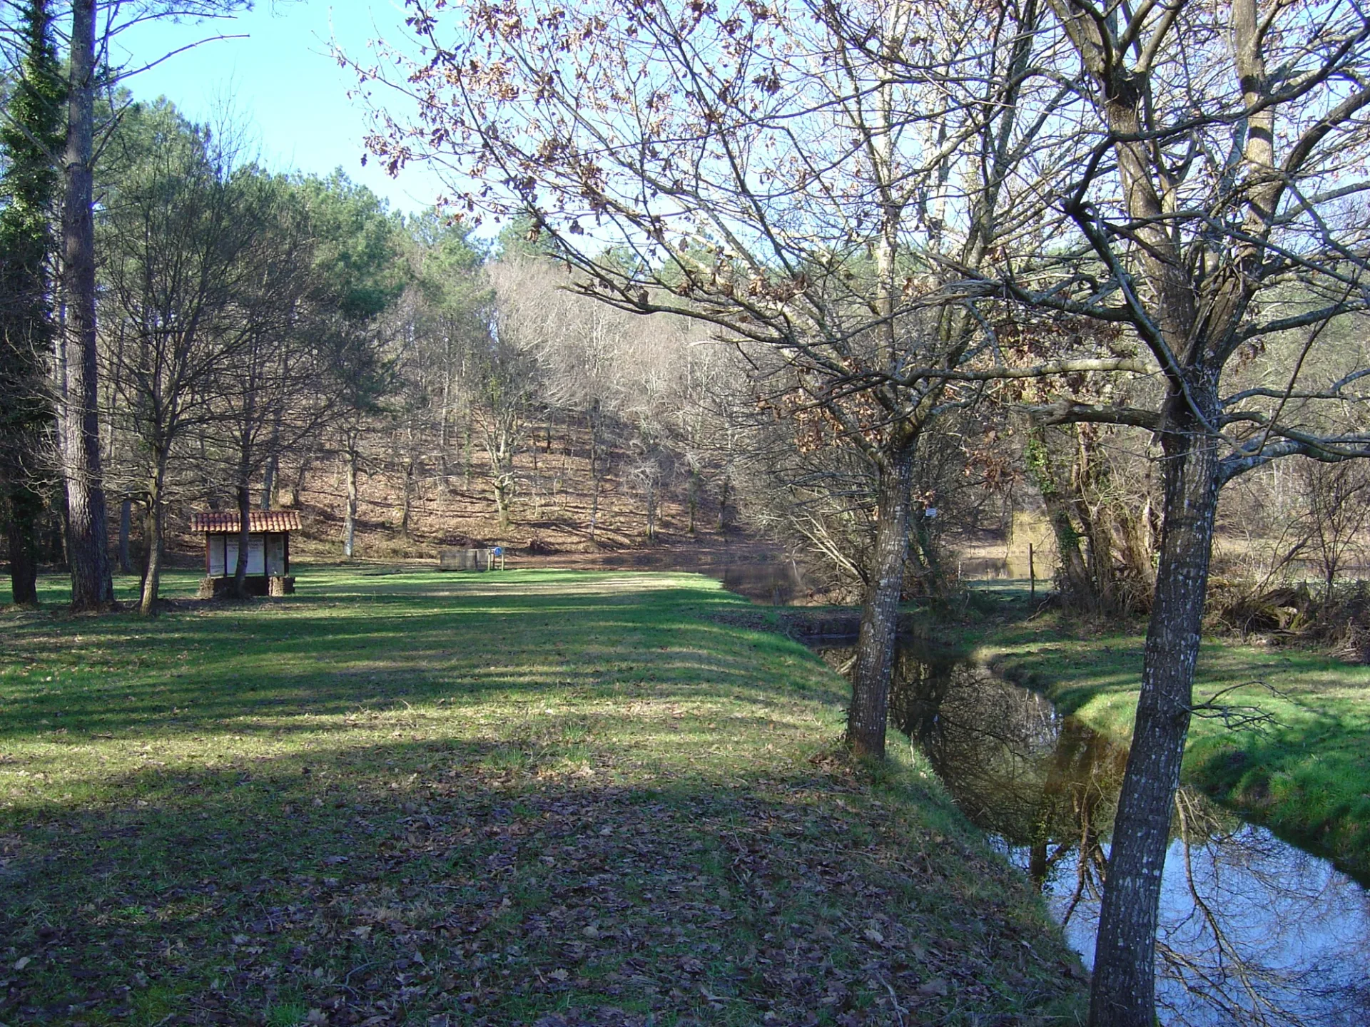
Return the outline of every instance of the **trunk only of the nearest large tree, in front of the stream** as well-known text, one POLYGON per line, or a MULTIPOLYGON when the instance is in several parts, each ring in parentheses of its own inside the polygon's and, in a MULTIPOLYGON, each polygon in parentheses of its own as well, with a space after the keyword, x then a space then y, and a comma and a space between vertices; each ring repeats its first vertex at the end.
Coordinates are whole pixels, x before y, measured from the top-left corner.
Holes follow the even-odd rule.
MULTIPOLYGON (((1197 390, 1195 390, 1197 392, 1197 390)), ((1204 401, 1210 423, 1217 401, 1204 401)), ((1203 620, 1214 511, 1218 505, 1215 440, 1171 397, 1163 437, 1164 520, 1160 566, 1147 627, 1141 696, 1118 813, 1089 1000, 1092 1027, 1152 1027, 1160 871, 1170 813, 1189 731, 1195 664, 1203 620)))

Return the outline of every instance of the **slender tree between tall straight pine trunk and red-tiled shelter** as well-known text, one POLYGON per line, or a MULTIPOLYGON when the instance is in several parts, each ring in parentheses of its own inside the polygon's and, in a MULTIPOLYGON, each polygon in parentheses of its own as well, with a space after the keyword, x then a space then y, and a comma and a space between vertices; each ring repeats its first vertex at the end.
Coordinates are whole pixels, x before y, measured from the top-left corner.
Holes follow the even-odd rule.
POLYGON ((260 185, 233 148, 153 107, 121 136, 140 152, 101 218, 107 352, 145 459, 147 566, 140 609, 162 572, 167 470, 186 433, 215 416, 215 392, 252 337, 236 304, 256 285, 260 185))

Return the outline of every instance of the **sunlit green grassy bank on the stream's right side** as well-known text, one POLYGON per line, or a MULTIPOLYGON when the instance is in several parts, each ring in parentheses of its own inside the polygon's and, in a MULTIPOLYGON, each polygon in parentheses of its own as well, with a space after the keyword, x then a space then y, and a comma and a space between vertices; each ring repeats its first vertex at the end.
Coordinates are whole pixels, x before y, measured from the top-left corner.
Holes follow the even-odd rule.
MULTIPOLYGON (((1043 618, 991 630, 981 653, 1060 709, 1119 738, 1132 734, 1143 638, 1043 618)), ((1195 718, 1185 775, 1215 798, 1370 878, 1370 667, 1314 649, 1206 639, 1196 698, 1218 700, 1254 727, 1214 711, 1195 718)))

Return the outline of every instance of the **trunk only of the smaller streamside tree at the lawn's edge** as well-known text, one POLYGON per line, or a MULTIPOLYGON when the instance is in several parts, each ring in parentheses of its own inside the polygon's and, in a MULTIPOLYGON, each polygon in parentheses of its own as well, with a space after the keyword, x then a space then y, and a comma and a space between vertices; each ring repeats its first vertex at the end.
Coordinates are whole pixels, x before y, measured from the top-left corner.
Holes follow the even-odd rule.
POLYGON ((862 604, 856 638, 852 704, 847 713, 847 742, 858 756, 885 757, 889 715, 889 672, 899 633, 899 593, 908 552, 908 507, 914 481, 914 441, 888 453, 880 468, 875 508, 875 552, 862 604))

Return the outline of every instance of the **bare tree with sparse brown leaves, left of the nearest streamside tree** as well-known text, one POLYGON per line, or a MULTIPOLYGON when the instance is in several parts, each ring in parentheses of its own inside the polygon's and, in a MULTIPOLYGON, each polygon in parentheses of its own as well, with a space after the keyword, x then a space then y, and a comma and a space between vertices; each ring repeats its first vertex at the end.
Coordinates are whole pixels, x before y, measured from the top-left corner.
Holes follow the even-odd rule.
POLYGON ((769 375, 760 398, 814 411, 874 468, 878 571, 848 738, 882 755, 917 441, 1001 374, 977 362, 1004 363, 947 279, 1033 227, 1015 203, 1036 199, 1040 168, 1022 162, 1063 99, 1026 74, 1037 7, 936 5, 926 33, 901 0, 532 0, 477 4, 456 29, 440 7, 410 4, 425 56, 392 82, 419 123, 390 119, 373 149, 471 174, 482 186, 459 205, 526 216, 586 296, 748 351, 769 375), (1036 121, 1018 118, 1028 89, 1036 121))

